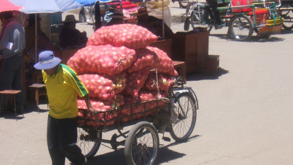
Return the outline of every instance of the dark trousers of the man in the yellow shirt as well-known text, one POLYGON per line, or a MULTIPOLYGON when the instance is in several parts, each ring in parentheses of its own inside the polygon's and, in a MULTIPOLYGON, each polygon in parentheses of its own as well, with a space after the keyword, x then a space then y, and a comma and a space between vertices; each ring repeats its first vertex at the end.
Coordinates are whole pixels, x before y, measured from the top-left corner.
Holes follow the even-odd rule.
POLYGON ((84 163, 84 155, 76 145, 77 118, 56 119, 48 116, 47 144, 52 165, 64 165, 65 157, 75 165, 84 163))

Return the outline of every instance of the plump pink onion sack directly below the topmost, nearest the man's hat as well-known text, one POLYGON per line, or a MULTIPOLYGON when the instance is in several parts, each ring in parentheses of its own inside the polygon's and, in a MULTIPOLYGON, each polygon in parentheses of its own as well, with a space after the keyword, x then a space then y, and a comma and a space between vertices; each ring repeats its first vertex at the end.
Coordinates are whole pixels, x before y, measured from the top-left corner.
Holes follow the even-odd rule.
POLYGON ((77 51, 67 65, 77 74, 119 74, 135 60, 135 51, 111 45, 87 46, 77 51))

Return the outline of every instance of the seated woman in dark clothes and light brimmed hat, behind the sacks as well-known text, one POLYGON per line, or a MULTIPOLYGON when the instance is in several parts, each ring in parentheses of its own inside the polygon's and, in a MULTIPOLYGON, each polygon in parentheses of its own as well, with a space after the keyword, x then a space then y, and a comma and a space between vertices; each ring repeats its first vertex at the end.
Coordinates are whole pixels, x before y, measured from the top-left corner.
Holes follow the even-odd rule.
POLYGON ((78 22, 74 15, 67 15, 65 17, 63 21, 64 26, 59 34, 60 47, 74 49, 86 46, 86 42, 88 41, 86 32, 80 32, 75 28, 78 22))

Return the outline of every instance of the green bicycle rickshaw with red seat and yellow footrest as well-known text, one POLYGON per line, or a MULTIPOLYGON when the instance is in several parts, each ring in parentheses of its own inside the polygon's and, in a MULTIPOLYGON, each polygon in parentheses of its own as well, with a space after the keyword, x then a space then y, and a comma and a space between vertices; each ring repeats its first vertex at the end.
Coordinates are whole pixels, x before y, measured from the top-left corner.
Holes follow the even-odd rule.
MULTIPOLYGON (((227 37, 230 35, 235 40, 245 41, 251 38, 253 30, 258 36, 270 36, 280 34, 283 19, 278 13, 281 6, 280 0, 269 2, 264 0, 261 3, 252 3, 251 0, 218 0, 218 7, 223 27, 229 27, 227 37)), ((214 16, 212 10, 206 3, 195 3, 190 7, 187 14, 188 24, 190 21, 192 28, 206 27, 211 30, 214 26, 214 16)), ((186 26, 186 25, 185 25, 186 26)))

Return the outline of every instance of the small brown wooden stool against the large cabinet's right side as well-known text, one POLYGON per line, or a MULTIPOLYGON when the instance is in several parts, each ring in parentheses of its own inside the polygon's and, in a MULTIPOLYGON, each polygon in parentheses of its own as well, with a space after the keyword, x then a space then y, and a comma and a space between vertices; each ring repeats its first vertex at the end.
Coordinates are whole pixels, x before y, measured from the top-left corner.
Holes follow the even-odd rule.
POLYGON ((208 55, 207 61, 206 61, 205 73, 217 76, 217 74, 219 73, 219 61, 220 61, 219 55, 208 55))

